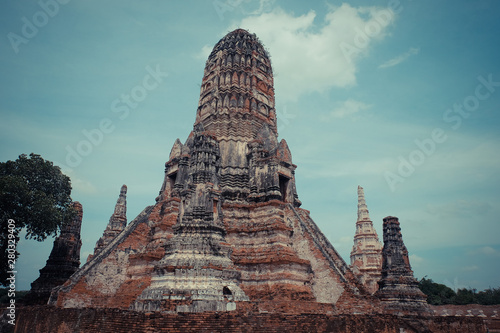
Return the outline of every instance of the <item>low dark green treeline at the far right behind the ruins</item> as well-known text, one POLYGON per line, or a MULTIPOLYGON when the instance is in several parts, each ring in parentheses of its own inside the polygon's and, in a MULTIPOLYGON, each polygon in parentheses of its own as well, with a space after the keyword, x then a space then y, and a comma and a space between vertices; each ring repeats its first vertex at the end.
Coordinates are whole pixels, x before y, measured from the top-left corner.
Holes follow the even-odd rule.
POLYGON ((419 288, 427 295, 427 303, 432 305, 500 304, 500 288, 489 288, 480 292, 476 289, 462 288, 455 293, 444 284, 435 283, 425 277, 420 280, 419 288))

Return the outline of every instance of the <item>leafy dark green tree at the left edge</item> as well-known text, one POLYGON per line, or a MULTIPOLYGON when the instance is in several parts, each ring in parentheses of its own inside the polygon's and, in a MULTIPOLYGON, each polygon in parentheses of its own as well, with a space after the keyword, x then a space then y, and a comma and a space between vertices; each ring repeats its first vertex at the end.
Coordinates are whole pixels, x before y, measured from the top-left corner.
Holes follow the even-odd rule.
MULTIPOLYGON (((23 228, 26 239, 43 241, 57 234, 65 218, 73 217, 70 195, 69 177, 40 155, 22 154, 15 161, 0 162, 0 284, 7 285, 10 276, 9 219, 15 221, 10 230, 16 244, 23 228)), ((16 251, 15 259, 18 255, 16 251)))

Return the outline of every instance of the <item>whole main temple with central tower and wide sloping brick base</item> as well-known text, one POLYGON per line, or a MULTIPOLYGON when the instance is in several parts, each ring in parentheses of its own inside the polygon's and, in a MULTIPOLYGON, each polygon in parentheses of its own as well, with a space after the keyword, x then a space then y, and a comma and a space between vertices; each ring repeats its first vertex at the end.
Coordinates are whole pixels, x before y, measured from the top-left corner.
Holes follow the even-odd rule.
POLYGON ((193 130, 177 139, 154 206, 106 242, 51 304, 145 312, 373 312, 300 208, 278 142, 269 55, 237 29, 205 66, 193 130))

